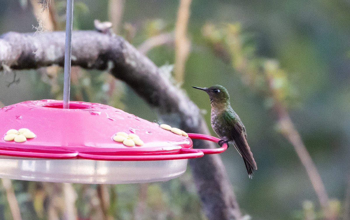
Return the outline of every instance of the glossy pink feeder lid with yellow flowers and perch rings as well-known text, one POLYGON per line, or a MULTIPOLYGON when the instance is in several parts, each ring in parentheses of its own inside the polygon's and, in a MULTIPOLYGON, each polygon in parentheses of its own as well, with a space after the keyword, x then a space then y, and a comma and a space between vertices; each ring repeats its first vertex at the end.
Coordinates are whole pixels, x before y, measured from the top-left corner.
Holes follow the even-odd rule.
MULTIPOLYGON (((24 101, 0 108, 0 155, 95 160, 187 159, 226 150, 192 149, 192 138, 216 137, 161 128, 120 109, 98 103, 24 101)), ((163 127, 163 126, 162 126, 163 127)))

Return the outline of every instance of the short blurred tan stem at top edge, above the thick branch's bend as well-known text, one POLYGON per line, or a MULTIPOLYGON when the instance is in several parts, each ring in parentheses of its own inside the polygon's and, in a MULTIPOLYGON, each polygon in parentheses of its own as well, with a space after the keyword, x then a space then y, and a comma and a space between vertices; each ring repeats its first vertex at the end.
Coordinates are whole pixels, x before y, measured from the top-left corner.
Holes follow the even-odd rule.
POLYGON ((123 17, 125 0, 109 0, 108 14, 109 20, 112 22, 112 31, 116 34, 119 33, 121 19, 123 17))

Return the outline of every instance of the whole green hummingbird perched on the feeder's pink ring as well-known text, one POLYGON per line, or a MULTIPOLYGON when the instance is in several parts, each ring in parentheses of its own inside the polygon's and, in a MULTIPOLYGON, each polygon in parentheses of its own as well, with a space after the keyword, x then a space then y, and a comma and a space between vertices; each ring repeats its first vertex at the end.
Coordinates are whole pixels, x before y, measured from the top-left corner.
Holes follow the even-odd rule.
POLYGON ((211 104, 211 127, 221 139, 218 144, 222 147, 226 143, 229 147, 229 142, 232 142, 243 158, 249 178, 252 178, 253 171, 257 170, 257 164, 247 142, 245 127, 231 107, 229 92, 221 85, 209 88, 192 87, 208 93, 211 104))

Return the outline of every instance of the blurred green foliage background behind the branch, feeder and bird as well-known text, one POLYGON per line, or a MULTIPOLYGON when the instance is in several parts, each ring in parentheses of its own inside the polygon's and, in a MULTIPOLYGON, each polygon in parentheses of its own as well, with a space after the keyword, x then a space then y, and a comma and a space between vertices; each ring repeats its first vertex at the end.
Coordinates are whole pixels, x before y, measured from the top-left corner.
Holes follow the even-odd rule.
MULTIPOLYGON (((0 0, 0 33, 63 30, 66 1, 51 2, 54 25, 50 29, 49 24, 44 28, 40 25, 36 16, 43 12, 30 0, 0 0)), ((243 214, 262 220, 322 218, 305 168, 278 123, 276 108, 283 108, 288 109, 317 167, 332 212, 337 219, 347 218, 349 1, 193 1, 189 19, 184 22, 177 16, 180 1, 74 3, 74 29, 94 29, 94 19, 113 21, 114 32, 165 72, 176 64, 172 72, 177 83, 203 109, 208 126, 208 95, 191 86, 220 84, 228 89, 258 165, 253 179, 249 179, 234 148, 221 154, 243 214), (181 22, 188 22, 187 31, 176 41, 174 31, 181 22)), ((149 121, 157 120, 132 88, 108 72, 73 68, 71 86, 71 100, 100 102, 149 121)), ((0 102, 5 106, 26 100, 62 99, 62 93, 62 68, 0 72, 0 102)), ((52 208, 58 219, 64 219, 64 207, 59 205, 63 197, 60 184, 20 180, 12 184, 23 219, 52 219, 52 208)), ((103 189, 98 185, 72 186, 79 219, 206 219, 189 171, 165 183, 106 185, 103 189), (109 203, 102 208, 100 190, 109 194, 109 203)), ((0 219, 12 219, 5 188, 0 186, 0 190, 0 219)))

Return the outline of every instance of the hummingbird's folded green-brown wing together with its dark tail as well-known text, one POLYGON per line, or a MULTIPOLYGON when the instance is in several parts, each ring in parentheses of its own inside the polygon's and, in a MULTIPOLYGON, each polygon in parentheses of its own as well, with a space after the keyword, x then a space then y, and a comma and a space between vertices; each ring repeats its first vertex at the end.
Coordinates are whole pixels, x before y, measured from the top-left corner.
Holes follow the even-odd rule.
POLYGON ((238 122, 237 117, 233 112, 225 111, 223 113, 226 129, 228 130, 232 140, 235 141, 235 147, 243 158, 249 177, 252 177, 253 169, 257 170, 257 164, 254 161, 253 154, 250 151, 250 147, 246 140, 244 128, 238 122))

